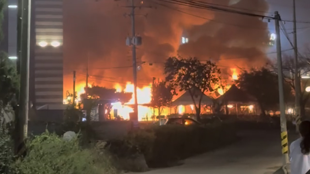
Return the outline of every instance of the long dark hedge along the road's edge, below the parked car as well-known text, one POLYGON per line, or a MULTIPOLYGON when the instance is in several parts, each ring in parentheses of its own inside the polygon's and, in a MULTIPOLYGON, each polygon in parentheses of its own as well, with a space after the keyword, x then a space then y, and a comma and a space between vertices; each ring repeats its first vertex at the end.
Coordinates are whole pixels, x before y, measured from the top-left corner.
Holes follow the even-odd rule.
POLYGON ((203 153, 236 139, 228 125, 183 127, 155 126, 131 132, 126 141, 139 148, 149 167, 166 167, 171 163, 203 153))

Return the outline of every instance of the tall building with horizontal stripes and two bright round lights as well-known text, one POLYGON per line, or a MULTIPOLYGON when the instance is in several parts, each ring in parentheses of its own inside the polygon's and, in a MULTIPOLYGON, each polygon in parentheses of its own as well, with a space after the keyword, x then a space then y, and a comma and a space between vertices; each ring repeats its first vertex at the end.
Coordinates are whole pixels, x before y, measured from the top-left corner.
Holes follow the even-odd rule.
POLYGON ((32 0, 30 100, 36 109, 63 109, 62 0, 32 0))

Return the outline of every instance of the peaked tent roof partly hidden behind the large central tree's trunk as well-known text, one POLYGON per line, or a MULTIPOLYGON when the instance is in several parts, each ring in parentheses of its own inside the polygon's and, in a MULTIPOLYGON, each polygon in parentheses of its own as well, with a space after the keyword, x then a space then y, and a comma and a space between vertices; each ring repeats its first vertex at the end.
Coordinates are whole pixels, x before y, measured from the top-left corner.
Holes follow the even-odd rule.
MULTIPOLYGON (((200 90, 194 90, 190 89, 192 92, 195 92, 194 94, 194 100, 196 103, 199 102, 200 96, 202 92, 200 90)), ((213 104, 212 98, 208 97, 205 94, 202 94, 202 104, 213 104)), ((193 104, 193 100, 190 96, 189 91, 187 90, 183 95, 181 95, 179 98, 177 98, 175 101, 171 103, 172 106, 179 106, 179 105, 191 105, 193 104)))

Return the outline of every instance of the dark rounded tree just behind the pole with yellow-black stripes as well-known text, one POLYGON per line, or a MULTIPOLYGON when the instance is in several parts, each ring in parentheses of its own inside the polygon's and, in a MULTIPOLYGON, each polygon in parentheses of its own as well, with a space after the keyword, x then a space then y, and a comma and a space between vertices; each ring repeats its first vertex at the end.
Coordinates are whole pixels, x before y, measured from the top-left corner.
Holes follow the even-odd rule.
MULTIPOLYGON (((236 81, 238 86, 252 96, 256 97, 263 114, 266 110, 277 111, 279 106, 278 75, 271 70, 244 71, 236 81)), ((292 99, 292 88, 284 83, 284 99, 288 102, 292 99)))

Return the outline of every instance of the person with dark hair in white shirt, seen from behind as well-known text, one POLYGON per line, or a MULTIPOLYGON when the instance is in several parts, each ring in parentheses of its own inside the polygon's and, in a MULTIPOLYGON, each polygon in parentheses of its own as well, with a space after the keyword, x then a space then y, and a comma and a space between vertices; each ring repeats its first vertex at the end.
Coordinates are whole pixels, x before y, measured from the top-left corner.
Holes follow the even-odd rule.
POLYGON ((310 174, 310 121, 301 122, 299 133, 290 145, 291 174, 310 174))

